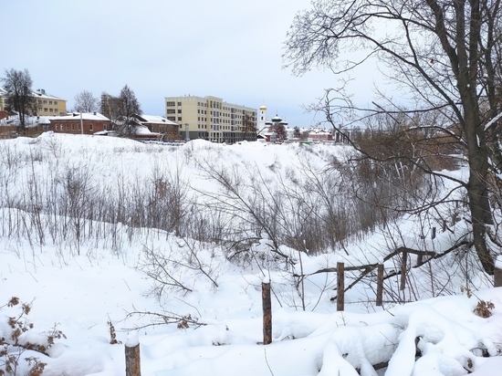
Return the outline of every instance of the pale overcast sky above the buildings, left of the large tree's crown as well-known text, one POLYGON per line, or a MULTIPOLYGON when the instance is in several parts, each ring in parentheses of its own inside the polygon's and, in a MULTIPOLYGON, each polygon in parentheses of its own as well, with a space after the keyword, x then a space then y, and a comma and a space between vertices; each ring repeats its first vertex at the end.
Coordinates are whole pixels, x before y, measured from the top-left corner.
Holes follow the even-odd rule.
POLYGON ((336 86, 329 71, 282 69, 295 14, 310 0, 0 0, 0 68, 27 68, 33 89, 68 100, 129 85, 145 114, 164 97, 212 95, 276 113, 290 126, 319 119, 302 106, 336 86))

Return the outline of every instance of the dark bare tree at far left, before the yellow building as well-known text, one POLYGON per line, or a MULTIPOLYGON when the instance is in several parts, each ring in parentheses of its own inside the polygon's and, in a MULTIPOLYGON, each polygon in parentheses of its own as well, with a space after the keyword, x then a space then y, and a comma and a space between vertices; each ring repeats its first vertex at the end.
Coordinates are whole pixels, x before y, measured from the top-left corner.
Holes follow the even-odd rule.
POLYGON ((34 112, 35 98, 31 86, 33 81, 27 69, 5 69, 5 91, 11 110, 19 113, 18 131, 25 131, 26 115, 34 112))

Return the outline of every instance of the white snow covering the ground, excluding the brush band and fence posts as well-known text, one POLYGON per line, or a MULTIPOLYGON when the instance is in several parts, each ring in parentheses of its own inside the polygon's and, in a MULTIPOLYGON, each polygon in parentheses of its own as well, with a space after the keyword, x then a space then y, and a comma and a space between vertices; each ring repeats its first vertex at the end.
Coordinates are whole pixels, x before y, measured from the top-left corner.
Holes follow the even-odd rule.
MULTIPOLYGON (((285 166, 299 165, 308 158, 322 170, 322 163, 330 156, 343 158, 350 152, 345 146, 312 145, 308 148, 316 149, 306 149, 298 144, 221 145, 200 140, 170 148, 118 138, 50 132, 36 140, 0 142, 0 149, 12 148, 11 151, 23 155, 35 150, 51 156, 58 153, 59 167, 54 168, 78 167, 103 186, 112 186, 117 176, 124 183, 133 184, 159 166, 172 169, 182 166, 181 177, 189 180, 197 192, 215 191, 217 185, 201 177, 194 156, 197 161, 221 163, 222 167, 238 160, 244 166, 241 173, 259 172, 266 180, 285 166)), ((37 168, 44 173, 48 170, 43 163, 37 168)), ((17 172, 18 176, 26 173, 17 172)), ((0 208, 0 227, 9 214, 16 214, 16 209, 0 208)), ((426 243, 436 252, 443 252, 451 245, 450 232, 438 234, 434 239, 430 236, 421 239, 414 221, 411 217, 404 218, 402 225, 407 235, 399 245, 420 248, 426 243)), ((205 266, 210 266, 216 287, 200 272, 183 267, 187 245, 174 235, 130 229, 126 225, 118 225, 116 230, 123 239, 134 232, 131 242, 124 241, 118 248, 105 239, 84 242, 79 245, 79 255, 75 245, 69 243, 47 240, 45 245, 37 245, 27 236, 0 237, 0 337, 10 332, 6 325, 8 318, 19 315, 19 306, 6 306, 12 297, 31 304, 26 319, 34 328, 26 330, 20 343, 44 343, 47 333, 55 330, 66 337, 55 339, 47 355, 33 350, 23 354, 47 363, 44 375, 123 375, 124 346, 138 343, 143 376, 500 374, 502 287, 489 287, 486 276, 479 270, 471 276, 473 286, 476 285, 476 288, 471 286, 476 289, 472 294, 461 288, 465 282, 458 279, 458 283, 452 282, 455 295, 382 308, 367 303, 369 293, 361 286, 348 292, 346 310, 340 312, 330 301, 331 288, 336 287, 334 274, 316 274, 305 280, 304 311, 295 295, 290 272, 236 266, 223 256, 219 247, 201 245, 197 256, 205 266), (140 267, 145 261, 146 246, 169 255, 177 265, 173 275, 192 292, 172 289, 160 299, 148 295, 152 281, 140 267), (270 282, 273 290, 273 343, 267 346, 260 344, 262 282, 270 282), (326 291, 319 290, 322 284, 327 286, 326 291), (490 317, 476 315, 480 301, 493 303, 490 317), (152 325, 158 324, 160 318, 147 312, 184 319, 186 325, 179 326, 178 321, 152 325), (120 343, 110 344, 109 322, 120 343), (417 350, 421 353, 419 358, 417 350), (484 352, 490 357, 483 357, 484 352), (388 367, 382 370, 372 366, 385 362, 388 367)), ((465 224, 455 225, 455 236, 465 232, 465 224)), ((375 232, 363 241, 347 245, 349 255, 304 254, 304 273, 335 267, 338 261, 350 266, 382 261, 389 250, 386 242, 382 233, 375 232)), ((266 254, 267 239, 254 247, 256 252, 266 254)), ((287 247, 281 250, 298 257, 295 250, 287 247)), ((465 255, 465 260, 468 257, 465 255)), ((497 265, 501 262, 498 259, 497 265)), ((453 279, 460 278, 455 274, 453 261, 445 264, 431 266, 436 268, 437 277, 449 272, 453 279)), ((297 264, 297 272, 298 267, 297 264)), ((386 265, 394 267, 390 262, 386 265)), ((413 277, 418 281, 416 286, 429 284, 421 270, 413 277)), ((420 290, 416 294, 428 296, 420 290)), ((26 365, 23 367, 26 371, 26 365)))

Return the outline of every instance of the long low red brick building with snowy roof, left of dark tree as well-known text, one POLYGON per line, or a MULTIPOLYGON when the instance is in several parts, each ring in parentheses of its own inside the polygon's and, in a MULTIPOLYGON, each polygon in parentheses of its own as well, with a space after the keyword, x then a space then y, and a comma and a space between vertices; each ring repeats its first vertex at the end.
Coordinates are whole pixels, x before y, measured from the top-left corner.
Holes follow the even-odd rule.
POLYGON ((111 121, 99 112, 75 112, 51 119, 49 130, 58 133, 95 134, 111 131, 111 121))

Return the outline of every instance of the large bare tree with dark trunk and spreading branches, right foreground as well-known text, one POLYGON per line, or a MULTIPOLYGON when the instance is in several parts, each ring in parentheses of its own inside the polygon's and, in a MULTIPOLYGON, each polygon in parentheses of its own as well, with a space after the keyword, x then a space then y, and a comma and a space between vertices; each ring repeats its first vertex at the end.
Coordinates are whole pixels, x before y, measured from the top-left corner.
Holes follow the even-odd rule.
MULTIPOLYGON (((500 0, 316 0, 310 10, 295 17, 284 55, 286 66, 297 74, 314 66, 350 73, 373 63, 374 57, 386 66, 384 72, 393 88, 413 98, 416 107, 412 110, 383 95, 382 102, 368 110, 352 105, 344 85, 327 90, 318 110, 344 135, 348 136, 340 121, 349 120, 347 114, 360 120, 379 113, 403 114, 409 119, 429 111, 442 113, 442 123, 424 128, 434 131, 435 138, 454 138, 463 148, 469 177, 467 182, 456 183, 467 193, 476 253, 488 274, 494 272, 497 253, 488 244, 499 243, 495 236, 492 242, 487 239, 494 223, 487 182, 491 179, 490 151, 500 155, 493 147, 502 116, 497 91, 502 78, 500 16, 500 0), (382 25, 385 32, 374 31, 382 30, 382 25), (344 51, 362 55, 345 58, 344 51)), ((403 135, 409 131, 416 129, 401 129, 403 135)), ((416 165, 447 178, 424 164, 416 165)))

